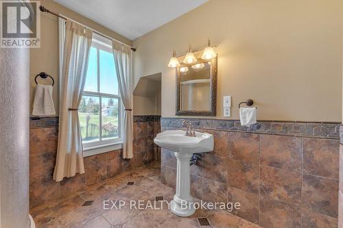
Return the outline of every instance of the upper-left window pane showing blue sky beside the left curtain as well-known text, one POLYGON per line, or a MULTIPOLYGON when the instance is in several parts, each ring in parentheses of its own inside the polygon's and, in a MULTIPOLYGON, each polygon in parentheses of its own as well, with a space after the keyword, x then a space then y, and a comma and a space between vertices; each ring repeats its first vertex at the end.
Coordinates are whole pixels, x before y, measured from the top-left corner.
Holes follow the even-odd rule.
POLYGON ((97 92, 97 49, 91 47, 84 91, 97 92))

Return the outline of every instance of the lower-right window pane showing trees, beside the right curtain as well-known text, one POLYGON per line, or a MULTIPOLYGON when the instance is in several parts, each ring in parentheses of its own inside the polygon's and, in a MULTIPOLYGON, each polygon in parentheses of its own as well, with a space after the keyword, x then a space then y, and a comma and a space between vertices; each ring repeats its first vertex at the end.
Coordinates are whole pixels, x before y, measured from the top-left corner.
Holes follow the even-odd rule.
POLYGON ((119 135, 118 99, 102 97, 102 138, 117 138, 119 135))

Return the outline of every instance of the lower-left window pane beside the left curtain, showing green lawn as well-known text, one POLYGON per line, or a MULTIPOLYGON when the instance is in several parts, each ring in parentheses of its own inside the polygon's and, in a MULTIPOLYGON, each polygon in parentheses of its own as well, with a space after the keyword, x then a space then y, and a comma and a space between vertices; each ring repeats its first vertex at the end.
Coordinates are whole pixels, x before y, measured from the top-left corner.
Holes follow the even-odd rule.
POLYGON ((82 96, 79 121, 82 142, 99 141, 99 97, 82 96))

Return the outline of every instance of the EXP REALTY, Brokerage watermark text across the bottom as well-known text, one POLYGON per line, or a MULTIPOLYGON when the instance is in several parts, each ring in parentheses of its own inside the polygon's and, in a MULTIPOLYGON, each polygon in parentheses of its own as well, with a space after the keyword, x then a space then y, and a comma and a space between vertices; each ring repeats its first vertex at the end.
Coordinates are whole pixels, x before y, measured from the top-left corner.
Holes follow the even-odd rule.
MULTIPOLYGON (((123 201, 123 200, 107 200, 104 201, 104 210, 121 210, 123 208, 130 208, 130 210, 163 210, 170 209, 170 202, 168 201, 123 201)), ((226 210, 233 212, 233 210, 240 210, 241 203, 224 203, 224 202, 191 202, 181 201, 181 209, 194 208, 196 210, 226 210)))

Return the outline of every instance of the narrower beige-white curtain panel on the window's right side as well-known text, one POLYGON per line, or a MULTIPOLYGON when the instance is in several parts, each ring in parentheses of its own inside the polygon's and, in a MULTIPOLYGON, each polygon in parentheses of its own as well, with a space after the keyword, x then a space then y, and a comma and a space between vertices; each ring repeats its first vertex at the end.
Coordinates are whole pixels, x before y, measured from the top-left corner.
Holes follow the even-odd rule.
POLYGON ((118 76, 119 92, 125 108, 123 118, 123 158, 133 157, 133 129, 132 129, 132 79, 130 47, 113 40, 113 56, 118 76))

